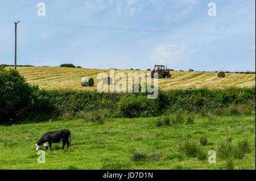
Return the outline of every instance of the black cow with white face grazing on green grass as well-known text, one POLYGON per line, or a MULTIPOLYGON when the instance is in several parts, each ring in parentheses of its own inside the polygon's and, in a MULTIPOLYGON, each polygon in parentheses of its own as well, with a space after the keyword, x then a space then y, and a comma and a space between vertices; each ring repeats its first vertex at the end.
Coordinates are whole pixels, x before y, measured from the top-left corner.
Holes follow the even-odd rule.
POLYGON ((62 140, 63 146, 62 149, 64 149, 64 146, 67 144, 69 147, 71 145, 71 133, 68 129, 62 129, 58 131, 52 131, 52 132, 46 132, 43 134, 42 138, 40 138, 39 141, 36 141, 36 150, 40 150, 41 146, 46 146, 46 150, 48 149, 48 146, 50 150, 52 150, 52 143, 58 143, 62 140), (68 141, 69 138, 69 141, 68 141))

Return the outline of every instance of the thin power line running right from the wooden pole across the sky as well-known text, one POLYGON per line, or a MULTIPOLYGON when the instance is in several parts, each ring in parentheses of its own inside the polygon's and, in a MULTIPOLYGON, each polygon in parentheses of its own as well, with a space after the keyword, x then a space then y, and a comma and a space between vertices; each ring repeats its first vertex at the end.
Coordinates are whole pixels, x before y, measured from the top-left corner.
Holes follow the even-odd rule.
POLYGON ((109 30, 109 31, 130 31, 130 32, 150 32, 150 33, 171 33, 175 35, 200 35, 200 36, 227 36, 227 37, 255 37, 255 35, 236 35, 226 33, 204 33, 204 32, 180 32, 180 31, 166 31, 166 30, 148 30, 139 28, 118 28, 118 27, 100 27, 100 26, 85 26, 79 24, 64 24, 64 23, 48 23, 48 22, 33 22, 33 21, 20 21, 25 24, 35 24, 42 26, 55 26, 55 27, 72 27, 72 28, 86 28, 94 30, 109 30))

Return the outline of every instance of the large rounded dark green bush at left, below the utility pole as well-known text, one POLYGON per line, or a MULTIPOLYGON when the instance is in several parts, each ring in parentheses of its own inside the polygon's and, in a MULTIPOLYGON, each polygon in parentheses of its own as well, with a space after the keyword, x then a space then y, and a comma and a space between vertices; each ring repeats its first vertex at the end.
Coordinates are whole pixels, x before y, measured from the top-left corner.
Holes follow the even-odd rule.
POLYGON ((52 106, 38 95, 38 87, 26 82, 18 71, 0 69, 0 124, 13 124, 28 118, 42 120, 52 106))

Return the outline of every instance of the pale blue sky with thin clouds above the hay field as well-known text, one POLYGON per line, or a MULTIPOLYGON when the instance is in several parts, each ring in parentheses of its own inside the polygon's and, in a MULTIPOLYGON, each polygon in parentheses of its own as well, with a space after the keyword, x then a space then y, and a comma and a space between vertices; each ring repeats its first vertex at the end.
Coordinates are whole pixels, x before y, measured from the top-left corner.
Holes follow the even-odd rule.
POLYGON ((18 64, 84 68, 255 70, 254 0, 9 0, 0 3, 0 64, 13 64, 14 23, 18 64), (38 16, 44 2, 46 16, 38 16), (208 3, 216 3, 216 16, 208 3), (95 30, 27 24, 78 24, 158 32, 95 30), (208 36, 162 31, 209 33, 208 36), (213 35, 213 34, 221 35, 213 35), (227 36, 227 35, 249 35, 227 36))

